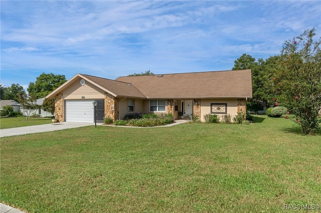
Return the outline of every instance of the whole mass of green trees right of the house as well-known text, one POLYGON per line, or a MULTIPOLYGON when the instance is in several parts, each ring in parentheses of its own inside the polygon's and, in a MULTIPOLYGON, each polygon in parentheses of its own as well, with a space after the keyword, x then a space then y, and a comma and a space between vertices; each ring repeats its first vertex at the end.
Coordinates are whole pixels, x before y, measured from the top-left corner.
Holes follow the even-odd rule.
POLYGON ((286 40, 279 55, 256 60, 243 54, 232 69, 252 69, 252 109, 259 103, 284 106, 304 134, 320 130, 321 118, 321 37, 315 28, 286 40))

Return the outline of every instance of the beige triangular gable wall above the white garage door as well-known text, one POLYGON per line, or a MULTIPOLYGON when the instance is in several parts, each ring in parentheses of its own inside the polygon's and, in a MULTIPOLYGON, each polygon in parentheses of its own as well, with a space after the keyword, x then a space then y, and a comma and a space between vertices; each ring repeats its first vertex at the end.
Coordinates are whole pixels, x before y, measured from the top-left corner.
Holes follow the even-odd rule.
POLYGON ((79 83, 81 78, 68 86, 64 92, 64 99, 104 99, 104 91, 91 84, 90 82, 85 83, 85 85, 81 85, 79 83))

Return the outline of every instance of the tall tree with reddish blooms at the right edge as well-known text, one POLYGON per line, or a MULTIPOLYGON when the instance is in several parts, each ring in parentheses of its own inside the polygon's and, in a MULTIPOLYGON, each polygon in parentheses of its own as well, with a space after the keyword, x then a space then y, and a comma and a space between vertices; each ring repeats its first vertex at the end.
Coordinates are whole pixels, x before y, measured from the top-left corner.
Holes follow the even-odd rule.
POLYGON ((279 102, 294 114, 304 134, 315 133, 321 122, 321 37, 313 39, 315 29, 305 30, 285 41, 281 50, 281 69, 273 77, 281 91, 279 102))

